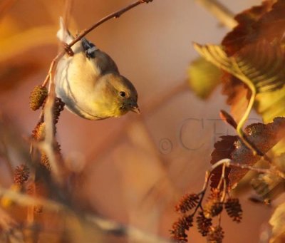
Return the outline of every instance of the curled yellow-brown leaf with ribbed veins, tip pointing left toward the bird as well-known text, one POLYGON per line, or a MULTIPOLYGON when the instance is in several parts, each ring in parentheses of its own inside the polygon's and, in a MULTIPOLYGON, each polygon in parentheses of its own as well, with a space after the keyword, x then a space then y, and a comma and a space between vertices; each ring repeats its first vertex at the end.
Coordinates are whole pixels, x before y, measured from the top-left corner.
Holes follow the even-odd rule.
POLYGON ((285 58, 278 43, 265 40, 244 46, 234 56, 227 56, 222 46, 194 44, 207 61, 247 84, 258 93, 274 91, 284 86, 285 58))

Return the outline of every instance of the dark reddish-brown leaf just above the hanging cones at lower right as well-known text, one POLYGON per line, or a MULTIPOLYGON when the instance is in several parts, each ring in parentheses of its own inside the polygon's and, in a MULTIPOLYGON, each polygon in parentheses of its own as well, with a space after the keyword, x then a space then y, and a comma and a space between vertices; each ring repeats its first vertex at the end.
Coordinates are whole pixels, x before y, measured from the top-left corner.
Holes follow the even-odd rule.
MULTIPOLYGON (((244 130, 250 143, 254 144, 262 153, 268 152, 276 145, 285 133, 285 118, 275 118, 273 123, 253 123, 244 130)), ((214 164, 224 158, 229 158, 233 162, 254 165, 259 159, 259 155, 253 155, 252 150, 247 148, 238 136, 222 136, 222 140, 214 144, 211 163, 214 164)), ((237 182, 248 172, 247 169, 239 167, 229 167, 226 169, 225 177, 227 185, 235 187, 237 182)), ((211 177, 211 187, 217 187, 219 178, 222 175, 222 168, 217 167, 211 177)))

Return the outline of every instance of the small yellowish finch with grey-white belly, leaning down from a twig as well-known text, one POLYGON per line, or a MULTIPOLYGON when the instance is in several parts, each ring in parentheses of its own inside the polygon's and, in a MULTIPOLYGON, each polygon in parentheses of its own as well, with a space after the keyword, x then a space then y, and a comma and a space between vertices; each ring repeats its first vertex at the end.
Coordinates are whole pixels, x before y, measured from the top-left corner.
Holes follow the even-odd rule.
MULTIPOLYGON (((71 43, 74 37, 60 19, 58 38, 71 43)), ((130 81, 121 76, 107 53, 82 38, 72 46, 56 68, 56 95, 72 113, 89 120, 119 117, 129 110, 140 113, 138 93, 130 81)))

